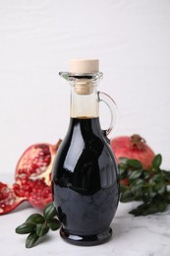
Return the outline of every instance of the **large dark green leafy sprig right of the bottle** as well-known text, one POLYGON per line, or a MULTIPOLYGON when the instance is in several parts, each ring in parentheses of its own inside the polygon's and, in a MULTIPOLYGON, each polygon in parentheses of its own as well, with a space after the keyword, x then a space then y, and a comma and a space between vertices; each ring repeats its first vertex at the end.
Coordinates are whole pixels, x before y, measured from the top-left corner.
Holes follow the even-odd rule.
POLYGON ((132 210, 134 216, 164 212, 170 203, 170 171, 160 168, 162 157, 156 155, 149 169, 143 169, 139 160, 120 159, 121 202, 142 201, 132 210), (123 182, 121 182, 123 183, 123 182))

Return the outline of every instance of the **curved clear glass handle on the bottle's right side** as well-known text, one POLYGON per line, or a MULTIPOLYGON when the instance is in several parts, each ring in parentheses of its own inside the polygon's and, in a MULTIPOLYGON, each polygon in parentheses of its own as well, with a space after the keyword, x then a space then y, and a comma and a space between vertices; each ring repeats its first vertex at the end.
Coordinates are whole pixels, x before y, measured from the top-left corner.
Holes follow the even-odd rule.
POLYGON ((101 92, 97 92, 97 94, 98 94, 98 101, 99 102, 103 101, 104 103, 106 103, 106 105, 110 109, 110 114, 111 114, 110 126, 108 127, 108 129, 103 130, 103 133, 109 140, 111 140, 118 126, 118 108, 113 98, 111 98, 111 96, 108 96, 105 93, 101 93, 101 92))

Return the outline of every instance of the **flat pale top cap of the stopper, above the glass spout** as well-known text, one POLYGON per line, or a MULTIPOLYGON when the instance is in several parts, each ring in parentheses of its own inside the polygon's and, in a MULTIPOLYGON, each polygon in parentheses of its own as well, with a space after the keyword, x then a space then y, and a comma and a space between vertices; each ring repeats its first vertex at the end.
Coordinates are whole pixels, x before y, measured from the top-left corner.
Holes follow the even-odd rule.
POLYGON ((98 72, 98 59, 72 59, 70 60, 71 73, 96 73, 98 72))

